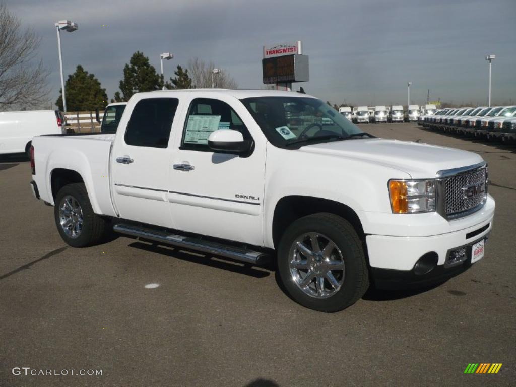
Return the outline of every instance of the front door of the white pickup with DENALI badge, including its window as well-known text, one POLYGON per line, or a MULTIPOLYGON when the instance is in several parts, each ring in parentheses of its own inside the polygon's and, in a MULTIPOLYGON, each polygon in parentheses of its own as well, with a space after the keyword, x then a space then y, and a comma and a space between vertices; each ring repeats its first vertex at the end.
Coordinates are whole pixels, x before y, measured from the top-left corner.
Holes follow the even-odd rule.
POLYGON ((259 128, 234 98, 221 95, 188 102, 169 171, 168 200, 176 227, 262 245, 265 139, 252 136, 250 130, 259 128), (212 151, 207 138, 218 129, 237 130, 253 139, 252 150, 243 155, 212 151))

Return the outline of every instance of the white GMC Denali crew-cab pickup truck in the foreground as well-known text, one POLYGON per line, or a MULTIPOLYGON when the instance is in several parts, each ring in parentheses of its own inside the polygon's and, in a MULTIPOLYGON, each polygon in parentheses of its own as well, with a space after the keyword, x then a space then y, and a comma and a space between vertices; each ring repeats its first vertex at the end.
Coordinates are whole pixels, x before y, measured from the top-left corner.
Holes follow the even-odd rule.
POLYGON ((275 260, 286 292, 325 312, 370 282, 462 272, 483 257, 495 209, 479 155, 375 138, 294 92, 137 93, 116 134, 37 136, 32 147, 31 187, 68 245, 114 229, 275 260))

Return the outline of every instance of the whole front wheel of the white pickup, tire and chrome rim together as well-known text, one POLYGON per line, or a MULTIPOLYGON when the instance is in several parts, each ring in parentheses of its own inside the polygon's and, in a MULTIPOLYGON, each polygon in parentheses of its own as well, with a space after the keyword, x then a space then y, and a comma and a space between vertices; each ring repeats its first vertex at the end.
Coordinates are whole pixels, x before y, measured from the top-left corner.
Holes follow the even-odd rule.
POLYGON ((359 236, 348 221, 329 213, 305 216, 289 225, 279 244, 278 271, 286 293, 294 301, 320 312, 338 312, 348 308, 362 298, 369 287, 359 236), (312 243, 310 250, 313 252, 314 235, 317 241, 315 248, 322 252, 309 257, 308 252, 301 253, 299 247, 304 249, 310 246, 307 243, 312 243), (301 245, 298 244, 300 241, 301 245), (328 247, 330 249, 325 249, 328 247), (331 256, 325 254, 327 250, 331 256), (329 269, 331 276, 326 277, 328 267, 332 267, 329 269), (303 281, 307 281, 310 275, 316 277, 304 286, 306 282, 303 281), (332 285, 331 277, 338 286, 335 286, 335 281, 332 285), (321 278, 322 291, 319 285, 321 278))

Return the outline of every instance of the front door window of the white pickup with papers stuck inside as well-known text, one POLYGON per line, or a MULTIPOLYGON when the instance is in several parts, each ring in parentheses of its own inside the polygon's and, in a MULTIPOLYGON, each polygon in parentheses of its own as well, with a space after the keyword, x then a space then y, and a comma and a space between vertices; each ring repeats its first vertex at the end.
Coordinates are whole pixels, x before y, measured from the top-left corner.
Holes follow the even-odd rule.
POLYGON ((193 100, 188 110, 181 148, 213 152, 208 148, 208 137, 218 129, 232 129, 241 132, 244 139, 251 138, 240 117, 227 103, 207 98, 193 100))

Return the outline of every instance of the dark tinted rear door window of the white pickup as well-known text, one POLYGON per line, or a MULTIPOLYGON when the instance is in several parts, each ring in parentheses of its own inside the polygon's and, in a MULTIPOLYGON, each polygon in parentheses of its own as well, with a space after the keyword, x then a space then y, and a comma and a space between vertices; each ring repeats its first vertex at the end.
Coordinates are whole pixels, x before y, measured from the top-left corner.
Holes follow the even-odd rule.
POLYGON ((139 101, 127 124, 125 143, 138 147, 167 148, 178 104, 176 98, 139 101))

